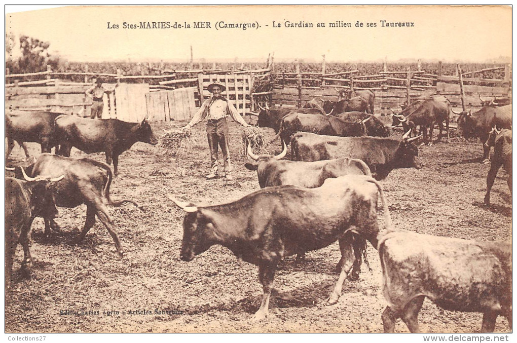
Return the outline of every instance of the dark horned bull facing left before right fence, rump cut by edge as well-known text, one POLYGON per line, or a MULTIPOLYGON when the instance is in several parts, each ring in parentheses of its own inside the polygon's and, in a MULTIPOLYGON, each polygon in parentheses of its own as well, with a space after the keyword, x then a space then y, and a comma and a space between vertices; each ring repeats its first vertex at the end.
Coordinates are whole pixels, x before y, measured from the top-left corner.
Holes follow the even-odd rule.
POLYGON ((489 163, 490 147, 486 147, 484 143, 488 139, 490 130, 496 126, 499 129, 511 129, 512 126, 512 105, 508 106, 488 106, 482 107, 481 110, 472 113, 468 112, 454 112, 459 114, 458 118, 458 133, 466 138, 478 137, 483 147, 483 156, 481 161, 489 163))

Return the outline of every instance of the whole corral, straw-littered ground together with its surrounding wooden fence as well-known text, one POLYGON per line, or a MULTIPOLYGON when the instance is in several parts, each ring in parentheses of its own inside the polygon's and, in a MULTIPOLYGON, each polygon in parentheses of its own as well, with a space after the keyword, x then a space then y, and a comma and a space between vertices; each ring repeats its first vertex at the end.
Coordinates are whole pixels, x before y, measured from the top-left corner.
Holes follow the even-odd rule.
MULTIPOLYGON (((88 115, 91 102, 84 91, 100 74, 106 88, 118 84, 114 94, 104 96, 103 118, 140 121, 148 117, 157 136, 168 130, 171 120, 185 124, 209 96, 206 86, 214 80, 227 86, 223 95, 243 114, 258 112, 258 105, 265 102, 297 107, 318 96, 333 100, 337 95, 334 86, 374 89, 376 114, 390 113, 389 107, 404 104, 408 93, 410 99, 441 93, 461 106, 455 64, 443 64, 441 77, 438 64, 425 63, 421 70, 417 64, 388 64, 385 70, 383 64, 330 63, 325 71, 323 64, 302 63, 297 70, 296 63, 273 64, 271 60, 241 68, 144 67, 113 65, 109 69, 90 64, 89 70, 74 65, 75 69, 68 71, 10 75, 6 105, 88 115), (248 70, 239 70, 245 67, 248 70), (357 82, 361 80, 368 82, 357 82)), ((511 96, 510 67, 461 68, 467 110, 469 104, 480 104, 479 95, 511 96)), ((381 119, 389 123, 388 117, 381 119)), ((246 120, 254 122, 255 117, 246 115, 246 120)), ((113 241, 99 222, 81 244, 70 244, 84 224, 84 205, 59 209, 56 221, 63 235, 45 239, 43 221, 35 221, 34 267, 31 278, 24 278, 19 271, 23 258, 19 248, 14 261, 16 284, 6 298, 6 332, 382 332, 386 302, 380 294, 378 254, 370 245, 371 270, 363 264, 360 279, 347 280, 341 299, 332 306, 324 302, 338 277, 333 272, 340 256, 338 244, 310 252, 300 263, 294 257, 285 259, 275 285, 290 292, 293 299, 272 298, 270 318, 259 323, 249 321, 262 299, 257 267, 237 260, 221 246, 211 247, 191 262, 179 260, 184 212, 166 199, 166 194, 198 205, 214 205, 259 189, 256 172, 243 166, 242 128, 233 122, 230 148, 235 179, 205 180, 209 151, 204 130, 202 124, 194 127, 192 144, 176 158, 165 157, 158 147, 143 143, 121 155, 112 197, 134 200, 143 208, 109 208, 127 253, 123 259, 116 256, 113 241), (66 310, 87 314, 70 315, 66 310), (90 310, 98 313, 90 315, 90 310)), ((269 133, 272 137, 273 130, 269 133)), ((393 136, 401 135, 396 131, 393 136)), ((32 156, 39 154, 39 146, 28 146, 32 156)), ((492 206, 483 206, 489 166, 479 163, 481 154, 479 142, 456 136, 447 143, 421 147, 422 169, 396 169, 381 181, 394 225, 439 236, 511 240, 512 198, 506 176, 499 171, 492 206)), ((26 165, 22 157, 22 152, 14 149, 11 164, 26 165)), ((104 161, 104 154, 87 155, 76 149, 71 157, 104 161)), ((380 212, 379 227, 385 227, 380 212)), ((424 332, 478 332, 481 320, 479 313, 446 311, 428 300, 420 313, 424 332)), ((496 332, 508 330, 506 319, 499 317, 496 332)), ((407 331, 400 320, 396 331, 407 331)))

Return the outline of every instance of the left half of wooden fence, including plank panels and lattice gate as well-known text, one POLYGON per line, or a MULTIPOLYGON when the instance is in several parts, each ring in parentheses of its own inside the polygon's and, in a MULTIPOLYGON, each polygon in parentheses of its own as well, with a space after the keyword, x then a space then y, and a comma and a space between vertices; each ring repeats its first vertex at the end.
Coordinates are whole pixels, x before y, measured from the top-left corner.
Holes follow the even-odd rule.
MULTIPOLYGON (((92 87, 89 82, 67 82, 56 76, 91 76, 113 77, 116 83, 104 83, 107 90, 103 96, 104 109, 102 118, 116 118, 124 121, 149 120, 189 120, 196 107, 210 96, 207 86, 219 81, 226 85, 223 95, 235 105, 241 114, 255 111, 254 98, 270 95, 269 92, 258 92, 253 95, 255 77, 262 80, 270 75, 270 69, 248 71, 209 70, 174 70, 170 75, 121 75, 98 73, 58 73, 47 71, 27 74, 6 75, 6 108, 13 110, 37 111, 45 110, 57 113, 89 116, 93 99, 86 96, 85 91, 92 87), (196 77, 191 77, 195 73, 196 77), (127 83, 131 79, 145 81, 147 79, 168 79, 176 75, 187 75, 185 79, 163 80, 156 85, 148 83, 127 83), (44 77, 43 80, 24 81, 27 78, 44 77), (124 82, 126 81, 126 82, 124 82), (115 87, 116 86, 116 87, 115 87)), ((134 80, 133 80, 134 81, 134 80)), ((156 81, 154 82, 156 83, 156 81)), ((261 90, 263 82, 257 83, 261 90)), ((256 87, 255 87, 256 88, 256 87)))

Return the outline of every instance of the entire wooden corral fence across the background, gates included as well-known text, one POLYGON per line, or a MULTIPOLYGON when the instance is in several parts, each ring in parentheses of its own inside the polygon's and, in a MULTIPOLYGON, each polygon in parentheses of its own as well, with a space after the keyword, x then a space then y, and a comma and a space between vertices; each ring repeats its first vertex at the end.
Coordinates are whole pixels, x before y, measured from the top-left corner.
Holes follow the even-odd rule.
POLYGON ((226 86, 223 96, 242 115, 248 114, 249 122, 254 121, 251 114, 259 111, 258 105, 265 102, 301 107, 312 98, 335 99, 336 89, 373 90, 375 113, 381 115, 390 114, 389 108, 400 108, 407 101, 431 95, 443 95, 452 106, 473 110, 481 104, 479 97, 511 97, 510 65, 326 64, 325 60, 321 64, 275 64, 270 56, 265 65, 256 64, 256 69, 251 65, 245 69, 244 64, 240 68, 213 64, 211 69, 200 65, 200 69, 181 70, 161 63, 157 68, 138 64, 125 70, 113 65, 115 73, 110 73, 90 72, 88 65, 69 66, 72 67, 74 71, 49 68, 39 73, 8 75, 6 106, 87 116, 92 99, 84 91, 95 77, 102 77, 106 88, 117 85, 114 93, 104 95, 103 118, 125 121, 144 117, 153 121, 187 120, 209 97, 206 87, 216 80, 226 86), (77 71, 81 68, 86 71, 77 71))

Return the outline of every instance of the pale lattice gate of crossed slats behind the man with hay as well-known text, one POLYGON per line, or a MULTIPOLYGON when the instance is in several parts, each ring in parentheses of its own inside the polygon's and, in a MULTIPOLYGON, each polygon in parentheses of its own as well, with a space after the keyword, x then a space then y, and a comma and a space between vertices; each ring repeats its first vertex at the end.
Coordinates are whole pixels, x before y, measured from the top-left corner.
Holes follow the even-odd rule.
POLYGON ((245 115, 247 112, 253 111, 252 102, 250 101, 251 89, 253 88, 253 80, 251 74, 198 74, 199 93, 201 102, 210 98, 211 94, 206 87, 209 84, 218 81, 226 86, 226 90, 221 93, 223 97, 228 99, 237 112, 245 115))

